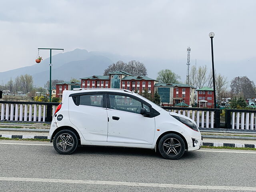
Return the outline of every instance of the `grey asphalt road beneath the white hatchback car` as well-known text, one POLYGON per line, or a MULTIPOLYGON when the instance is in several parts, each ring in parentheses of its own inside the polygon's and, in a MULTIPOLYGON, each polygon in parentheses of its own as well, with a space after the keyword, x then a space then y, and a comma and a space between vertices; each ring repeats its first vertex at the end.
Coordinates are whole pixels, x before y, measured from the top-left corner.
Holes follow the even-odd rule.
POLYGON ((49 142, 2 140, 0 191, 256 191, 255 160, 256 151, 208 149, 180 160, 134 148, 60 155, 49 142))

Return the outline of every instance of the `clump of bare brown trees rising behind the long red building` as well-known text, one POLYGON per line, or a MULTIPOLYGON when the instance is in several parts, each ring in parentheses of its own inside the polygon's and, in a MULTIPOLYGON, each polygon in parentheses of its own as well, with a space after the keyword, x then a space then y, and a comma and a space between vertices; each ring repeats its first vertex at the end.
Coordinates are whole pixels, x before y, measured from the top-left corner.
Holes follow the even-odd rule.
POLYGON ((104 70, 103 75, 108 75, 110 72, 114 72, 114 71, 125 71, 134 76, 147 75, 146 66, 143 63, 135 60, 128 62, 128 64, 124 63, 123 61, 118 61, 116 63, 113 63, 104 70))

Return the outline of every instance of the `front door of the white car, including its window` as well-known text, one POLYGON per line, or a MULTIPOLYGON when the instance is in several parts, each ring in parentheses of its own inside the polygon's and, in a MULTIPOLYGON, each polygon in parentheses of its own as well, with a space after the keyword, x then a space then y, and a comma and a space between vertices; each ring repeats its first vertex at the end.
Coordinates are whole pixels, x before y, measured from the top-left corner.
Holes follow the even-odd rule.
POLYGON ((108 142, 152 144, 155 118, 140 114, 150 107, 129 94, 107 94, 108 142))

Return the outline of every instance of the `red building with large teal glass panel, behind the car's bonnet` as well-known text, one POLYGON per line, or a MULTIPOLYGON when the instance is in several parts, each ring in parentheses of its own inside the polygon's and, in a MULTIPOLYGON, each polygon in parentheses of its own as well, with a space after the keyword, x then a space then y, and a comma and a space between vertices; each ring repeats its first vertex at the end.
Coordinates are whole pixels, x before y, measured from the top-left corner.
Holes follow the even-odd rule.
POLYGON ((194 104, 195 89, 190 85, 158 83, 154 85, 154 92, 156 91, 160 95, 162 106, 175 106, 181 102, 194 104))

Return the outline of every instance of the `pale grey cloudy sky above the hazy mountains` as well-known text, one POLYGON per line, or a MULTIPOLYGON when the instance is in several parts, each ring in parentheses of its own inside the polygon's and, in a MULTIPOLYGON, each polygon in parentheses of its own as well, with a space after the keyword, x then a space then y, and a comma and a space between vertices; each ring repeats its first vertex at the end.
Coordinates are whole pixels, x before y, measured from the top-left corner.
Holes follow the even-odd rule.
MULTIPOLYGON (((192 64, 197 59, 210 68, 208 34, 213 31, 216 70, 229 79, 247 75, 256 81, 255 7, 255 0, 2 0, 0 72, 33 65, 38 47, 185 65, 190 46, 192 64)), ((175 72, 180 66, 170 68, 175 72)))

